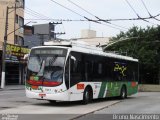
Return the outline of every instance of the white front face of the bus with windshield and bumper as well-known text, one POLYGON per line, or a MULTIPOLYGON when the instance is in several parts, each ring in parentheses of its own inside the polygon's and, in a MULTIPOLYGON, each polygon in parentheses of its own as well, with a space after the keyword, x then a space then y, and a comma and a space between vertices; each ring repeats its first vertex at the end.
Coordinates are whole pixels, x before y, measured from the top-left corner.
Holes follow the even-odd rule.
POLYGON ((26 75, 26 96, 44 100, 68 101, 64 82, 67 49, 37 47, 31 49, 26 75))

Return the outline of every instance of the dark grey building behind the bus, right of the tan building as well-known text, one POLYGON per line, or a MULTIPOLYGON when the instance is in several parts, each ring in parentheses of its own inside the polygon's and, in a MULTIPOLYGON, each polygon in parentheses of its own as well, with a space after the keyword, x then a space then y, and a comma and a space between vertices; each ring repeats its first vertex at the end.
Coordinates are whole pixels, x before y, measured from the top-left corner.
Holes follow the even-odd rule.
POLYGON ((44 42, 55 40, 56 34, 58 34, 54 32, 55 24, 60 23, 46 23, 33 26, 25 26, 24 45, 28 48, 32 48, 34 46, 41 46, 44 42))

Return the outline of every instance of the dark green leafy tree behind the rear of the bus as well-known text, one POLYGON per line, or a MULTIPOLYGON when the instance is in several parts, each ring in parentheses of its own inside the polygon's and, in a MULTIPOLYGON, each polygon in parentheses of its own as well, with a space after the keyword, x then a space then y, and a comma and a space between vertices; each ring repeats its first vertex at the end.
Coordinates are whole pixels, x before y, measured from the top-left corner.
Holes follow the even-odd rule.
POLYGON ((140 83, 159 84, 160 26, 146 29, 133 26, 127 32, 112 37, 111 41, 122 39, 126 40, 108 46, 104 50, 127 53, 127 56, 139 59, 140 83))

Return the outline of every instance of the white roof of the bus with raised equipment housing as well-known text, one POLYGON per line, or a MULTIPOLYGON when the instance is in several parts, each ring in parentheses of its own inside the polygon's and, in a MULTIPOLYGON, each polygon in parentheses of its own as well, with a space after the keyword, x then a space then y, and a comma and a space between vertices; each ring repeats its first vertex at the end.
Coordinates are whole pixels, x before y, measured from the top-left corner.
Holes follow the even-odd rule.
POLYGON ((103 52, 102 48, 89 45, 83 41, 57 41, 57 42, 50 41, 50 42, 45 42, 44 45, 45 46, 33 47, 32 49, 56 47, 56 48, 69 49, 70 51, 95 54, 95 55, 106 56, 110 58, 117 58, 117 59, 138 62, 138 59, 134 59, 133 57, 118 55, 118 54, 111 53, 111 52, 103 52))

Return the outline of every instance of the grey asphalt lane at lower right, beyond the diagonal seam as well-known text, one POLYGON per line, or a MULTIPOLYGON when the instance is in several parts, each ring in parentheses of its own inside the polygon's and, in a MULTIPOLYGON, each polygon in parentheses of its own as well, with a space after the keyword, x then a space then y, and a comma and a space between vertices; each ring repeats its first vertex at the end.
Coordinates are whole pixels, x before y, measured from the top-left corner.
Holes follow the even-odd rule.
POLYGON ((119 114, 127 114, 126 116, 128 118, 133 114, 159 114, 156 115, 156 119, 160 120, 160 92, 140 92, 128 97, 118 104, 95 111, 92 114, 82 116, 77 120, 97 120, 104 119, 106 117, 113 120, 113 116, 119 114))

